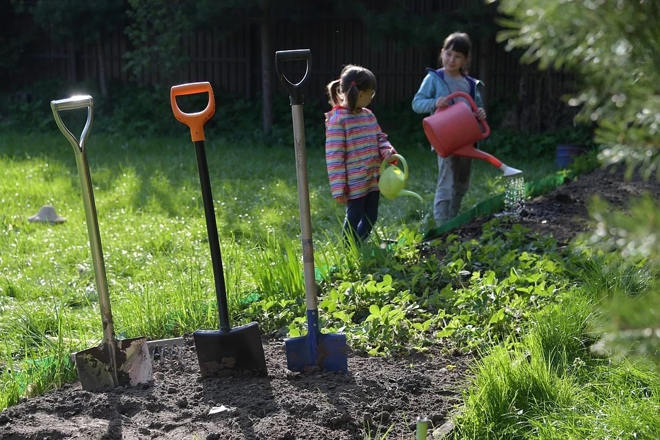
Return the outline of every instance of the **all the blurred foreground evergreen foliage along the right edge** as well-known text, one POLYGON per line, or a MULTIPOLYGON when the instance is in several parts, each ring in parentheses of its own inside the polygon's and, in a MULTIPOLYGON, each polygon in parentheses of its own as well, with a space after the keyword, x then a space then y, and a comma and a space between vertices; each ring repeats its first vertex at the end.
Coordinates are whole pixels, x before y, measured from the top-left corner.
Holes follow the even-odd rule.
MULTIPOLYGON (((499 10, 507 30, 498 39, 522 48, 523 61, 572 69, 581 78, 582 89, 569 102, 597 126, 604 162, 660 177, 660 2, 501 0, 499 10)), ((659 269, 657 201, 636 201, 625 214, 599 206, 595 216, 594 243, 659 269)), ((628 318, 617 311, 606 345, 660 358, 659 303, 657 287, 643 300, 619 303, 628 318)))

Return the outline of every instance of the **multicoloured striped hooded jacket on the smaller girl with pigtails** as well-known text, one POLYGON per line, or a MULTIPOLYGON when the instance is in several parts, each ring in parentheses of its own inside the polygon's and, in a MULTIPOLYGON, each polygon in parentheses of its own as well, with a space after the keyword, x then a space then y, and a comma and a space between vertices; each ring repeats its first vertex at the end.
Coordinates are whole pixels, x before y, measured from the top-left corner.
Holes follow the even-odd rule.
POLYGON ((351 113, 333 107, 325 113, 325 161, 332 197, 349 200, 378 190, 380 164, 392 145, 369 109, 351 113))

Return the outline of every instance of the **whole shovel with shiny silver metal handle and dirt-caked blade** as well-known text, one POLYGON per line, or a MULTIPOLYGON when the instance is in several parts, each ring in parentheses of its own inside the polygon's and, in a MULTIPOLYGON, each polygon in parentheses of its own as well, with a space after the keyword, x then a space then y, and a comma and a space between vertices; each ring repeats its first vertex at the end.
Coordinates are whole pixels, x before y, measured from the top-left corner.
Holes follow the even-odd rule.
POLYGON ((104 342, 98 347, 78 351, 75 353, 78 378, 83 389, 94 391, 101 388, 117 386, 134 386, 152 380, 153 369, 148 353, 146 338, 131 338, 118 340, 115 338, 115 329, 110 307, 108 281, 105 274, 101 239, 98 232, 98 219, 94 203, 89 165, 87 164, 87 148, 85 141, 89 135, 89 128, 94 117, 94 99, 91 96, 73 96, 63 100, 50 102, 57 126, 67 137, 76 154, 76 165, 80 176, 80 188, 83 190, 83 206, 85 207, 85 221, 89 234, 91 259, 94 263, 94 276, 98 290, 101 321, 103 323, 104 342), (64 110, 87 108, 87 122, 80 135, 80 141, 62 122, 59 112, 64 110))

